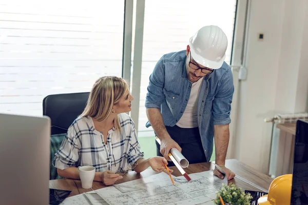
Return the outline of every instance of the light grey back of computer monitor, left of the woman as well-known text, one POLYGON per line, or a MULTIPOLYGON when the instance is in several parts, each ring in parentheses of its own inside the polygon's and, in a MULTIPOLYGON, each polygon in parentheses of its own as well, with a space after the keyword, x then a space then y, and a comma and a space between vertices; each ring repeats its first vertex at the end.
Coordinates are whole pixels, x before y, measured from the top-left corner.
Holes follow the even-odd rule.
POLYGON ((0 204, 49 204, 50 119, 0 114, 0 204))

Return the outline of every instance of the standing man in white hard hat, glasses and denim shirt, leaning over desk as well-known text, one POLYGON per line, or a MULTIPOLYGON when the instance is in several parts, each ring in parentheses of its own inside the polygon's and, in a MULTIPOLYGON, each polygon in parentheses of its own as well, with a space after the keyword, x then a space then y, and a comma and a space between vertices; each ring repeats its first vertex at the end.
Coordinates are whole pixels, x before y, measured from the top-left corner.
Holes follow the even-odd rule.
MULTIPOLYGON (((225 167, 225 158, 234 85, 224 62, 226 48, 225 33, 205 26, 186 50, 163 55, 150 75, 145 107, 161 140, 158 155, 170 161, 168 153, 176 148, 189 163, 209 161, 214 139, 215 162, 230 180, 235 174, 225 167)), ((224 178, 217 169, 214 174, 224 178)))

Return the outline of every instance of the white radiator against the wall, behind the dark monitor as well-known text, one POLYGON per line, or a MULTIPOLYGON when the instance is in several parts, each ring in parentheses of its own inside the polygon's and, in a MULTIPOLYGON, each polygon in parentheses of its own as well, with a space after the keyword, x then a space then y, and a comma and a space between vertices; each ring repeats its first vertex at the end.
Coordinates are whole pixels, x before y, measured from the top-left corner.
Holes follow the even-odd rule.
MULTIPOLYGON (((285 174, 283 172, 287 172, 287 171, 277 170, 277 167, 279 167, 277 163, 281 163, 280 161, 279 162, 277 161, 279 140, 281 145, 281 139, 279 139, 281 133, 280 129, 277 128, 277 124, 296 123, 298 119, 308 121, 308 113, 277 114, 273 118, 264 119, 265 122, 272 122, 273 124, 272 136, 271 136, 271 150, 269 152, 269 163, 268 163, 268 175, 271 176, 272 178, 276 178, 277 175, 285 174)), ((291 147, 292 145, 286 145, 286 146, 291 147)))

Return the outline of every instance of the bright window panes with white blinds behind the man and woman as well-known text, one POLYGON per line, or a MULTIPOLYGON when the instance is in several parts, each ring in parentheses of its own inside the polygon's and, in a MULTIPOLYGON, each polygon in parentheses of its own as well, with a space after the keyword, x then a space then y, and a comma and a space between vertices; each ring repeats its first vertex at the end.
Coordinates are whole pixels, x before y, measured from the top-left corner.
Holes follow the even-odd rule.
MULTIPOLYGON (((88 92, 103 75, 129 78, 130 51, 134 51, 129 40, 123 44, 123 38, 134 36, 131 21, 138 12, 132 4, 138 1, 2 0, 0 112, 42 115, 47 95, 88 92), (124 20, 124 7, 128 20, 124 20), (129 50, 124 64, 123 50, 129 50)), ((213 24, 228 37, 225 60, 230 63, 236 4, 236 0, 145 0, 141 85, 132 86, 140 89, 135 93, 140 93, 139 114, 133 118, 139 136, 153 135, 152 128, 145 128, 144 104, 149 75, 163 54, 186 49, 189 37, 213 24)))

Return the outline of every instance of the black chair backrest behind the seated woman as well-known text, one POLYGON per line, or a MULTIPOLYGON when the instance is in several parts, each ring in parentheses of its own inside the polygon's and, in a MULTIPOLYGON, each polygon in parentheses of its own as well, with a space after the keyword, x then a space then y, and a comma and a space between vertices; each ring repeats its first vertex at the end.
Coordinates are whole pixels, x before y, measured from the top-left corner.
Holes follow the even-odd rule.
POLYGON ((51 135, 66 133, 86 107, 89 92, 48 95, 43 99, 43 115, 51 119, 51 135))

